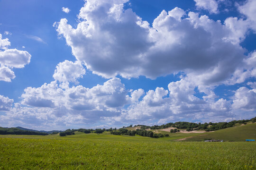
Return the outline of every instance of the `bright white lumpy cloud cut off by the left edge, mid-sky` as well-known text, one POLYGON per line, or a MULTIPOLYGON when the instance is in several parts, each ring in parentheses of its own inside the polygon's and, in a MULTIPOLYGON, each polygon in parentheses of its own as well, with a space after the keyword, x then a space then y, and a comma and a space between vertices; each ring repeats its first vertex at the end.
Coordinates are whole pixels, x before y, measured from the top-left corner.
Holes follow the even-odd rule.
POLYGON ((8 49, 9 46, 9 39, 2 39, 0 34, 0 81, 10 82, 15 78, 12 68, 24 68, 30 62, 31 55, 27 51, 8 49))

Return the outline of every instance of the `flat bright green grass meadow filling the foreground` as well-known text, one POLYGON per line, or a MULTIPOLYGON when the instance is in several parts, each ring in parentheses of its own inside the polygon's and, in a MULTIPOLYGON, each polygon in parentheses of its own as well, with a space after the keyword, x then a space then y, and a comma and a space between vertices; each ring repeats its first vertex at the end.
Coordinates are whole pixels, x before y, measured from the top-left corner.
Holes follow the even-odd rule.
MULTIPOLYGON (((213 133, 213 132, 212 132, 213 133)), ((172 142, 109 133, 0 135, 0 170, 253 170, 254 142, 172 142)))

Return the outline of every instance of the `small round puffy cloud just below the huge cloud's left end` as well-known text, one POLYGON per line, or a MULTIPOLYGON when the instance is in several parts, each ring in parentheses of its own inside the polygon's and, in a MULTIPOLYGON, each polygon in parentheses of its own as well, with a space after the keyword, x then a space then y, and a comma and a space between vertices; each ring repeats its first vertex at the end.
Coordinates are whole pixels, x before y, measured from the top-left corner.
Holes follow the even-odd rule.
POLYGON ((77 78, 82 78, 84 74, 85 69, 79 61, 72 62, 65 60, 56 66, 53 77, 59 82, 73 82, 78 84, 77 78))

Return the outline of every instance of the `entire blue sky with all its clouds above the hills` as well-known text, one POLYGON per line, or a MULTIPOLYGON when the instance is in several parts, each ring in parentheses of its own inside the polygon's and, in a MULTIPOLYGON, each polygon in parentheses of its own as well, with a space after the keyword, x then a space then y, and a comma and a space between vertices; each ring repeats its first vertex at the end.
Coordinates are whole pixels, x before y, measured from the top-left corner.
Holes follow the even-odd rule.
POLYGON ((256 116, 256 0, 0 0, 0 127, 256 116))

